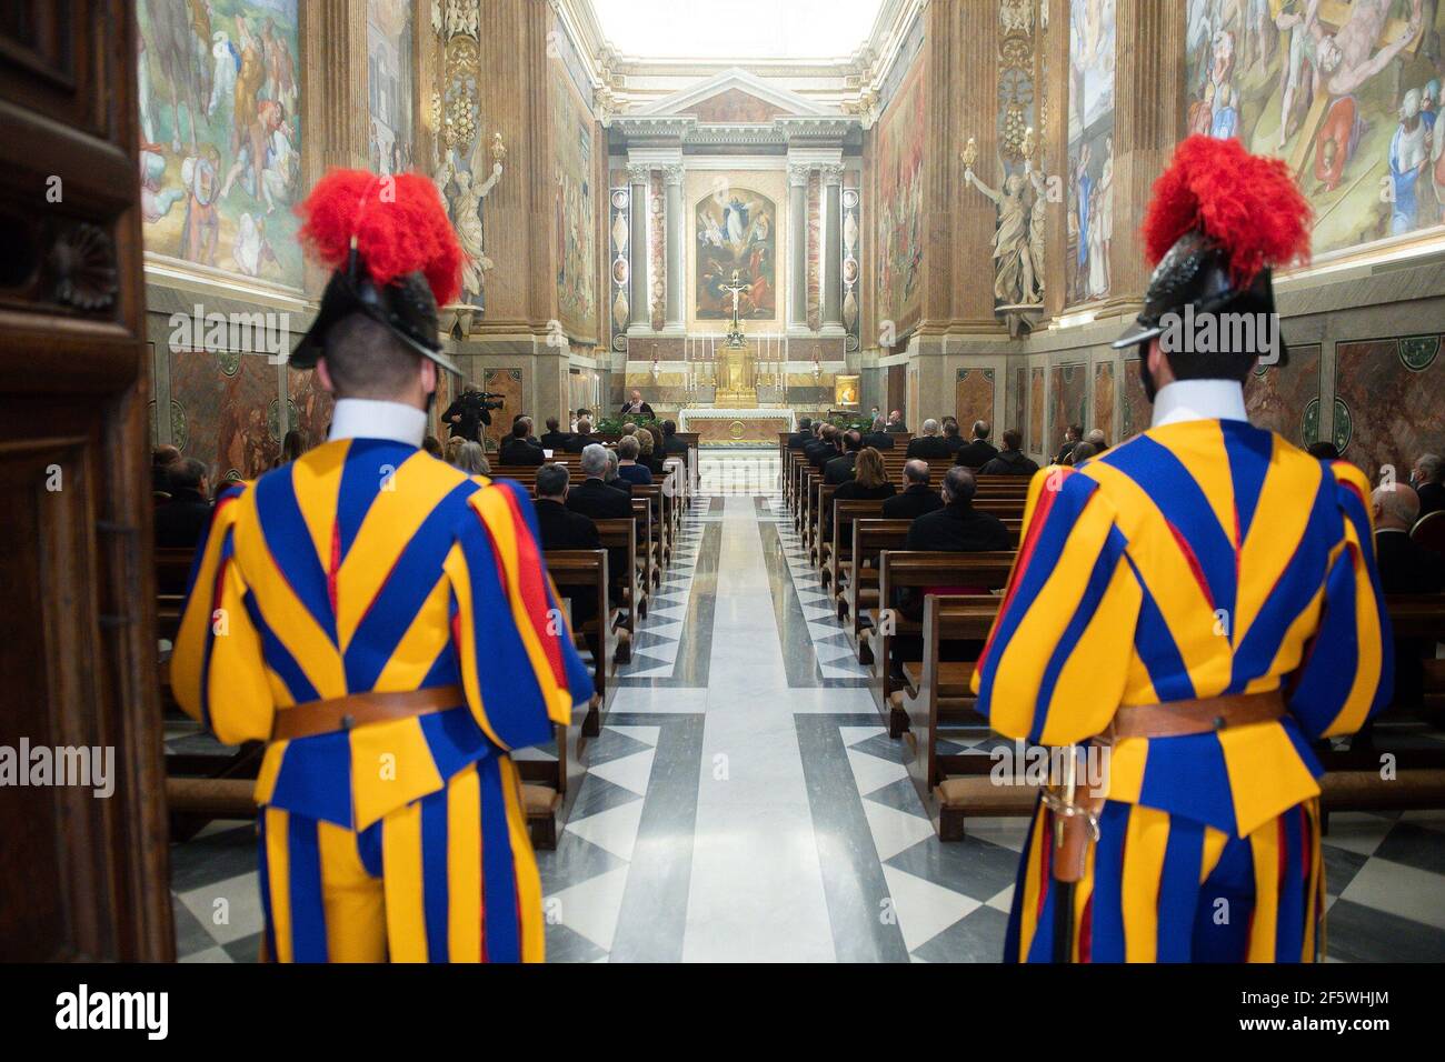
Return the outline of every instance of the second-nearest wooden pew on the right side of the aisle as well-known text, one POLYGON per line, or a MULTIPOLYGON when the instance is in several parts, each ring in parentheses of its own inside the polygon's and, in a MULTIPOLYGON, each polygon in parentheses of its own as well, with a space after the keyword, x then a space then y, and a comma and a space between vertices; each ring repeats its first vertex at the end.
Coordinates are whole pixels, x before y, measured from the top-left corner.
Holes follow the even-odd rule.
POLYGON ((909 588, 915 592, 926 587, 983 587, 1001 590, 1009 582, 1016 553, 922 553, 886 549, 879 556, 879 607, 868 611, 876 631, 873 689, 879 712, 889 728, 889 737, 900 737, 907 730, 907 715, 894 694, 893 639, 899 634, 922 634, 923 624, 905 618, 894 604, 894 594, 909 588), (884 611, 886 610, 886 611, 884 611), (884 621, 887 616, 887 621, 884 621))

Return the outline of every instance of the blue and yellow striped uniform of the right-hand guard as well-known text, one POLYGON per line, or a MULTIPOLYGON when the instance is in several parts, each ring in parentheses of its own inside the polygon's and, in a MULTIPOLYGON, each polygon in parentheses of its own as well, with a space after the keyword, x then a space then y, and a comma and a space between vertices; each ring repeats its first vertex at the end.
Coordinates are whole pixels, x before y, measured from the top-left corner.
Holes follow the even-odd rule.
MULTIPOLYGON (((1309 743, 1354 733, 1392 689, 1367 498, 1360 470, 1243 420, 1153 428, 1035 475, 974 675, 994 730, 1066 746, 1118 705, 1283 688, 1289 707, 1280 722, 1113 747, 1074 893, 1078 961, 1318 957, 1309 743)), ((1040 806, 1010 959, 1053 949, 1051 832, 1040 806)))

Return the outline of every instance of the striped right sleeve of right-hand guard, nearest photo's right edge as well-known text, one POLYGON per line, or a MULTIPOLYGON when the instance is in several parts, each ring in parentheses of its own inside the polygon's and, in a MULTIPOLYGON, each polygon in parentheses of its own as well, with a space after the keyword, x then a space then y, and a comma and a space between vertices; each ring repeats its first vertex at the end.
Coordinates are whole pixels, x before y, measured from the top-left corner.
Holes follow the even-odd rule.
POLYGON ((1394 692, 1394 644, 1374 559, 1370 484, 1345 461, 1331 468, 1341 539, 1329 552, 1319 629, 1289 696, 1290 711, 1315 738, 1355 733, 1394 692))

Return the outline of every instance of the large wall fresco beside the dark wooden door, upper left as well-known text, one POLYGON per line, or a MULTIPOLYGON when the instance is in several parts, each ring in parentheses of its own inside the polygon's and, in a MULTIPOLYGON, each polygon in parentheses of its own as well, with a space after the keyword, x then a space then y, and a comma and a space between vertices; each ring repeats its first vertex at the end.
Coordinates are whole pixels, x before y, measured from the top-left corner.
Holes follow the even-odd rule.
POLYGON ((299 288, 296 0, 139 6, 146 250, 299 288))

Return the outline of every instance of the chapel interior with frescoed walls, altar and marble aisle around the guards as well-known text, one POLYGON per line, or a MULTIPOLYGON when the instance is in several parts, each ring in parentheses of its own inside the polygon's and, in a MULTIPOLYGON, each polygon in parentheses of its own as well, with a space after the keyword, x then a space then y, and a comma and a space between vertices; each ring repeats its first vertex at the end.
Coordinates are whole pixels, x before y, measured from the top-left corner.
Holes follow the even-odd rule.
MULTIPOLYGON (((195 538, 165 513, 327 441, 288 354, 328 282, 298 207, 337 168, 429 178, 465 254, 444 459, 471 389, 470 472, 536 491, 520 415, 574 488, 579 420, 653 465, 603 527, 626 590, 587 584, 597 698, 514 753, 549 962, 1000 961, 1039 786, 938 640, 983 644, 1027 477, 975 498, 1009 551, 948 568, 789 442, 857 429, 902 493, 952 441, 936 493, 971 439, 1045 468, 1149 429, 1111 344, 1191 136, 1283 160, 1312 211, 1248 420, 1412 484, 1394 529, 1445 553, 1438 0, 0 7, 0 746, 116 757, 107 799, 0 785, 0 959, 264 951, 260 750, 172 696, 195 538), (894 631, 900 587, 994 601, 894 631)), ((1410 683, 1315 750, 1328 961, 1445 961, 1445 594, 1407 581, 1410 683)))

